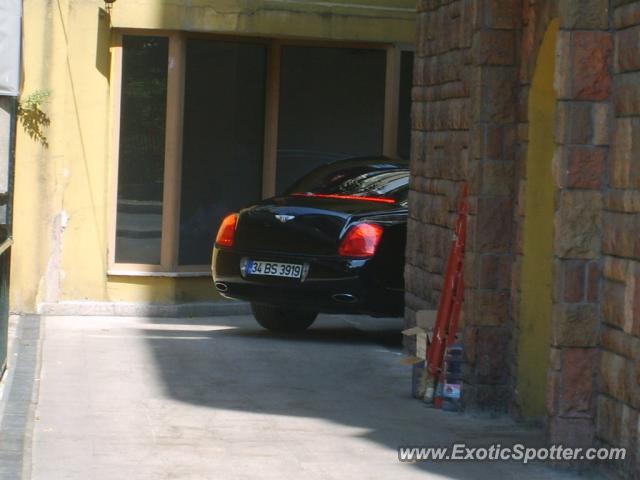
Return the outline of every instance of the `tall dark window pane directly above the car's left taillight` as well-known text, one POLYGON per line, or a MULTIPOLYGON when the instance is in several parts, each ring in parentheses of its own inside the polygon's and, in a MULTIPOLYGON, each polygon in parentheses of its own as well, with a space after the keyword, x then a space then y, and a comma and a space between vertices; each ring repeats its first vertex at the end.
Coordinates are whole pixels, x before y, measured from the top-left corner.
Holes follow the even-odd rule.
POLYGON ((265 66, 262 45, 187 42, 181 265, 208 264, 222 218, 260 199, 265 66))

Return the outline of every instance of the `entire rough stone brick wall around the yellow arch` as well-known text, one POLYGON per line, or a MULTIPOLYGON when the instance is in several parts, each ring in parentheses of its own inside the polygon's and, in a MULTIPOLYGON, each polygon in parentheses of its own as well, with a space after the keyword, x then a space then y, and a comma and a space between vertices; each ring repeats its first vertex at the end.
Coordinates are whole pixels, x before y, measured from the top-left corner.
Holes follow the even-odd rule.
POLYGON ((556 19, 549 433, 553 443, 627 447, 623 469, 635 478, 640 0, 418 2, 406 322, 437 305, 457 194, 467 181, 463 395, 467 406, 507 408, 515 387, 529 85, 556 19))

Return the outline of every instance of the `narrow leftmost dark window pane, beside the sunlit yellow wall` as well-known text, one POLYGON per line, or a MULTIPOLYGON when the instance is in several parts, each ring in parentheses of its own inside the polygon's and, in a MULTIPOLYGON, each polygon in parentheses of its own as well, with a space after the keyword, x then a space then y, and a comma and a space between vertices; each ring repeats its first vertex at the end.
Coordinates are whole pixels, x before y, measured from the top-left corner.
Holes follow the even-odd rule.
POLYGON ((159 264, 169 42, 125 36, 122 46, 115 260, 159 264))

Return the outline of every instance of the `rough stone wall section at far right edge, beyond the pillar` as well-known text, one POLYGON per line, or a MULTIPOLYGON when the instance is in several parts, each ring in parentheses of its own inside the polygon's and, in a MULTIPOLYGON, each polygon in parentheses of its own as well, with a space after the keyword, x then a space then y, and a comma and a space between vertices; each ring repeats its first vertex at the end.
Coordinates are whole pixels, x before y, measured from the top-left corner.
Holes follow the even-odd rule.
POLYGON ((611 153, 604 191, 596 436, 640 476, 640 1, 615 1, 611 153))

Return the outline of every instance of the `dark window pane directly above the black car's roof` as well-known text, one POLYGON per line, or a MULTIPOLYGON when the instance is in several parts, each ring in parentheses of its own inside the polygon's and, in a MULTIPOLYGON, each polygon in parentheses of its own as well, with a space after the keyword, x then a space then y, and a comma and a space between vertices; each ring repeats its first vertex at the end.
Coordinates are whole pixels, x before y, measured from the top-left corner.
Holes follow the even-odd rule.
POLYGON ((382 152, 382 50, 283 47, 276 190, 333 160, 382 152))

